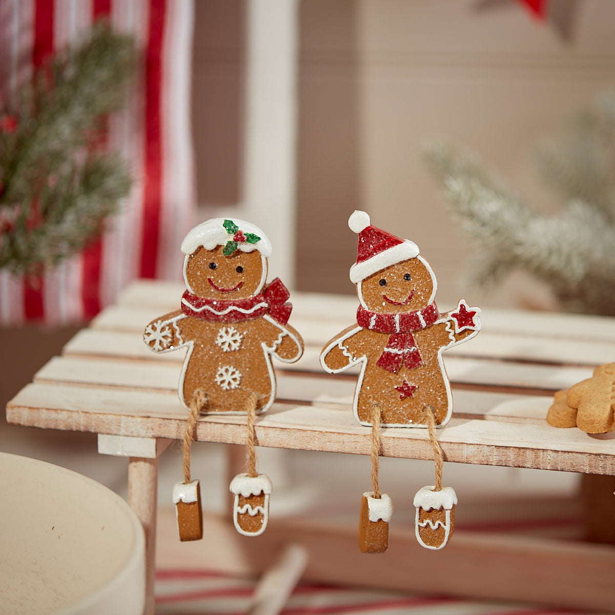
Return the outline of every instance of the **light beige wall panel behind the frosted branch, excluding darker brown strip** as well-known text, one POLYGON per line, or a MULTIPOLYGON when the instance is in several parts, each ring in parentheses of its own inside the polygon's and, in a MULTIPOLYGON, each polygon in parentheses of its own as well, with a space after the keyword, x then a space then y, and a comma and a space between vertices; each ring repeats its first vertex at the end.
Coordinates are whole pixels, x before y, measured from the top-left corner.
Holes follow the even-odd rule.
POLYGON ((496 292, 464 287, 470 240, 445 213, 421 162, 437 135, 475 149, 528 202, 554 209, 531 154, 597 90, 613 84, 615 3, 580 3, 573 41, 515 3, 362 0, 359 40, 359 192, 379 226, 415 240, 440 282, 440 300, 552 306, 541 285, 515 276, 496 292))

